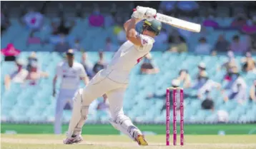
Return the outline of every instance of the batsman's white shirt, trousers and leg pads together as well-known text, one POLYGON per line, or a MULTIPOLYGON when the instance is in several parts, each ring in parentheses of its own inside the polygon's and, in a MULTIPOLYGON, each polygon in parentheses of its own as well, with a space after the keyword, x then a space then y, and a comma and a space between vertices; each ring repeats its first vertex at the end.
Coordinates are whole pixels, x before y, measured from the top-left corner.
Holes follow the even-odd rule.
POLYGON ((154 38, 146 35, 138 35, 141 38, 142 46, 134 46, 131 41, 126 41, 114 54, 112 61, 107 68, 99 71, 89 82, 88 86, 79 89, 74 99, 72 119, 69 123, 68 138, 73 134, 81 134, 84 120, 87 119, 89 105, 95 99, 107 94, 109 101, 109 111, 112 116, 110 123, 129 135, 130 138, 134 134, 134 130, 138 130, 132 124, 132 121, 124 115, 123 98, 129 82, 129 73, 132 68, 142 60, 142 58, 151 51, 154 38))

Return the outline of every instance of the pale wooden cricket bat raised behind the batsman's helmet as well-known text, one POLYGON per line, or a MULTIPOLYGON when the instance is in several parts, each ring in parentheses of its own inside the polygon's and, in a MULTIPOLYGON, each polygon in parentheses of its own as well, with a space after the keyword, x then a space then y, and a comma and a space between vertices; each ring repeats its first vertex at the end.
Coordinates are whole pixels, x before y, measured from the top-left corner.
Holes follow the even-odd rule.
MULTIPOLYGON (((133 11, 136 11, 136 9, 134 9, 133 11)), ((157 19, 158 21, 161 21, 164 24, 168 24, 170 26, 174 26, 174 27, 177 27, 179 29, 184 29, 184 30, 187 30, 187 31, 193 31, 193 32, 197 32, 197 33, 199 33, 201 31, 201 25, 200 24, 195 24, 195 23, 192 23, 192 22, 189 22, 189 21, 184 21, 182 19, 177 19, 177 18, 174 18, 172 16, 167 16, 167 15, 164 15, 164 14, 157 13, 154 16, 154 19, 157 19)))

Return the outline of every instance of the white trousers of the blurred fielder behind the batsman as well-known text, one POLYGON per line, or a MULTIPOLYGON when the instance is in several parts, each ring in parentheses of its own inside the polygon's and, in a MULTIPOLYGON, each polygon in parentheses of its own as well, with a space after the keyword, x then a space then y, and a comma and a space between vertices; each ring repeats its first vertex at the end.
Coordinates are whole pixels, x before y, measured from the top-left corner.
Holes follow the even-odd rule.
POLYGON ((69 102, 73 106, 74 93, 76 89, 60 89, 56 100, 55 109, 55 121, 54 121, 54 133, 61 134, 61 119, 64 111, 65 105, 69 102))

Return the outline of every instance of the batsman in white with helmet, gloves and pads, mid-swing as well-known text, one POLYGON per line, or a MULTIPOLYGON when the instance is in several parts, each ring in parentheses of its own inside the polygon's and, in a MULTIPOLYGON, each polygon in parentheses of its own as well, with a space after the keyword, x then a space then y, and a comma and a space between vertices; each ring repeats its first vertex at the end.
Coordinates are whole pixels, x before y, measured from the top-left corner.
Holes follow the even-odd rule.
POLYGON ((82 141, 81 131, 87 119, 89 105, 106 93, 109 100, 109 111, 112 115, 109 122, 114 128, 137 141, 139 145, 148 145, 139 128, 124 115, 122 106, 130 71, 151 51, 154 36, 157 36, 162 28, 162 24, 154 19, 156 13, 155 9, 138 6, 132 14, 132 19, 124 23, 128 41, 123 43, 115 53, 107 68, 99 71, 88 86, 79 89, 74 97, 72 119, 69 123, 67 139, 64 140, 64 144, 82 141), (138 34, 135 25, 142 19, 147 20, 144 21, 142 34, 138 34))

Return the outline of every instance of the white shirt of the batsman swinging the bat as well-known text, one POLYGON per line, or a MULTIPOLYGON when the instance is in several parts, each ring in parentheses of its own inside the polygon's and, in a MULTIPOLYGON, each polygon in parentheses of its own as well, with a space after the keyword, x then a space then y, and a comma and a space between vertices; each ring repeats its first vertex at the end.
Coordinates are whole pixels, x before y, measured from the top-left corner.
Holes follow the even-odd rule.
POLYGON ((114 81, 127 82, 129 73, 134 66, 151 51, 154 38, 147 35, 138 35, 141 38, 142 46, 135 46, 131 41, 126 41, 114 54, 112 61, 104 71, 114 81))

